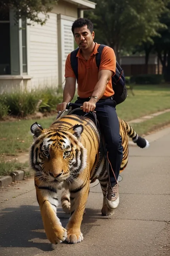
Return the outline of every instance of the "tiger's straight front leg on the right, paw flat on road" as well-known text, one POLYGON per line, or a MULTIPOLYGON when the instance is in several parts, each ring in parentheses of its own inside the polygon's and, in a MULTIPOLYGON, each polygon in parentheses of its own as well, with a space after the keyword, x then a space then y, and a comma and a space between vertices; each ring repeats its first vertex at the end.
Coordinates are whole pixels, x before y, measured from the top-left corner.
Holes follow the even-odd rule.
POLYGON ((90 181, 87 181, 83 188, 81 188, 80 186, 79 188, 72 190, 70 192, 71 217, 69 219, 69 223, 66 226, 66 241, 69 243, 79 243, 83 240, 83 235, 81 233, 80 226, 89 195, 89 189, 90 181))

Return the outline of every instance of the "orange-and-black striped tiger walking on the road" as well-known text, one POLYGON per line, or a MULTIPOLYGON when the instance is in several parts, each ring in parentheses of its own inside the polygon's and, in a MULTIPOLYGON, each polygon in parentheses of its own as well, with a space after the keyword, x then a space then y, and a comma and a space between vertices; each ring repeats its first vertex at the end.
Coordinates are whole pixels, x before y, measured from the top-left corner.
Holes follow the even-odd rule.
MULTIPOLYGON (((122 172, 128 163, 128 137, 141 148, 149 143, 121 118, 122 172)), ((102 215, 112 215, 107 206, 107 158, 101 150, 102 138, 89 117, 68 114, 55 120, 47 129, 37 122, 30 127, 34 142, 30 148, 30 165, 35 171, 34 184, 44 230, 48 240, 78 243, 83 240, 80 227, 89 195, 90 183, 99 180, 103 192, 102 215), (70 213, 64 228, 57 217, 58 190, 62 190, 61 206, 70 213)))

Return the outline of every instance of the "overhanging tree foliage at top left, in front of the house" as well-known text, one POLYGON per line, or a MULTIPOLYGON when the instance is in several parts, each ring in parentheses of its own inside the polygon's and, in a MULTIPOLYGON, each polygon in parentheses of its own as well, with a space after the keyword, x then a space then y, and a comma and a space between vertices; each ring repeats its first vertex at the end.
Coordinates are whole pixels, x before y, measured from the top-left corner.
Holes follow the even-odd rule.
POLYGON ((48 18, 47 13, 52 10, 52 4, 57 4, 57 0, 0 0, 0 10, 5 13, 14 9, 16 21, 27 18, 30 22, 43 25, 48 18), (38 17, 40 12, 44 18, 38 17))

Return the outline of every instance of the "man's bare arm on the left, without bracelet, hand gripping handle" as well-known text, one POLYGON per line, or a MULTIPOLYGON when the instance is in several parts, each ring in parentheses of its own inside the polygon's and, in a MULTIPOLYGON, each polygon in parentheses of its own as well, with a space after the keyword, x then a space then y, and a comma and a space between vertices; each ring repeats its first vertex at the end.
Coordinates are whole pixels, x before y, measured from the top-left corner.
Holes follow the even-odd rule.
POLYGON ((66 82, 63 91, 63 101, 57 105, 57 111, 62 111, 66 109, 66 106, 74 98, 76 91, 76 78, 66 77, 66 82))

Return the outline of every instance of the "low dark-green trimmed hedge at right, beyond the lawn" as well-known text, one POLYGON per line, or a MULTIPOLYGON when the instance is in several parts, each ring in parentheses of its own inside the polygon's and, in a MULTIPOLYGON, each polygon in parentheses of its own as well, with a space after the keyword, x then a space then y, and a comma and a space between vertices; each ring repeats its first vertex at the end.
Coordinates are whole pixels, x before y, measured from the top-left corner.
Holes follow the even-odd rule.
POLYGON ((160 84, 163 77, 162 75, 137 75, 131 77, 136 84, 160 84))

